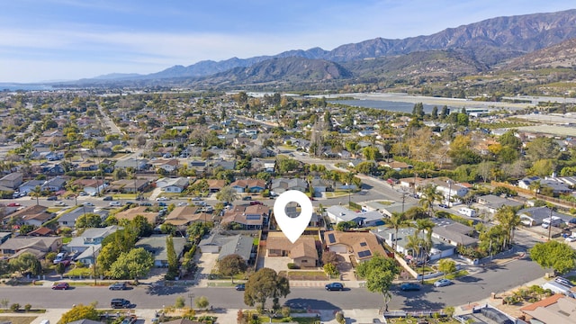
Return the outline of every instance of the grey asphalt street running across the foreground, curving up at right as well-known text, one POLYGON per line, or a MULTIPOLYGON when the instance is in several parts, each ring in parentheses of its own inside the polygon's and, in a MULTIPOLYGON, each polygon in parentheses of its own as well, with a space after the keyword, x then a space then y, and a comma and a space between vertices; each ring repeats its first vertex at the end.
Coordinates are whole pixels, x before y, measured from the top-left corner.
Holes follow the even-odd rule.
MULTIPOLYGON (((491 293, 503 293, 518 285, 540 278, 545 271, 525 257, 503 266, 490 266, 481 273, 460 277, 455 284, 435 288, 425 285, 419 292, 401 292, 392 289, 390 310, 422 311, 439 310, 448 305, 457 306, 476 302, 491 293)), ((247 306, 243 293, 233 288, 198 288, 187 286, 155 287, 141 285, 127 291, 110 291, 106 287, 78 286, 67 291, 53 291, 49 287, 2 287, 0 295, 10 303, 30 303, 32 307, 68 308, 73 304, 98 302, 99 308, 107 308, 112 298, 125 298, 139 309, 160 309, 173 305, 176 297, 184 297, 189 303, 189 293, 195 297, 206 296, 215 308, 241 309, 247 306)), ((271 304, 272 301, 269 302, 271 304)), ((292 287, 288 298, 280 302, 293 308, 311 310, 376 309, 383 306, 383 297, 369 293, 365 288, 352 288, 345 292, 326 292, 322 287, 292 287)))

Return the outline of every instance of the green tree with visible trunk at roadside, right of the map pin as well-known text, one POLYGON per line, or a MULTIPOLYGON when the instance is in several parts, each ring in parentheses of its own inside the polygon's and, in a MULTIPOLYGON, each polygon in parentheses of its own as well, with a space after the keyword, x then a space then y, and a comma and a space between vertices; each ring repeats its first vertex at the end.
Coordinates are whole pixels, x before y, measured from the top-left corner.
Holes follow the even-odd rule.
POLYGON ((400 267, 396 260, 390 257, 374 256, 370 260, 356 267, 357 274, 365 278, 366 288, 373 293, 382 293, 386 311, 392 299, 390 288, 396 275, 400 274, 400 267))

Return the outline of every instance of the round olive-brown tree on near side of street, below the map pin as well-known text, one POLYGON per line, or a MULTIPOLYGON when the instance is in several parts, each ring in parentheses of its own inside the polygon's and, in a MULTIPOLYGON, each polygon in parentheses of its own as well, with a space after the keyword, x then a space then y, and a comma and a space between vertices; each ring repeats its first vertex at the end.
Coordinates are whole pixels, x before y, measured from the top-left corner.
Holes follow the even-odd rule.
POLYGON ((280 297, 285 298, 289 293, 288 278, 276 274, 273 269, 264 267, 248 277, 244 303, 248 306, 260 303, 260 307, 264 310, 268 298, 272 298, 276 303, 280 297))

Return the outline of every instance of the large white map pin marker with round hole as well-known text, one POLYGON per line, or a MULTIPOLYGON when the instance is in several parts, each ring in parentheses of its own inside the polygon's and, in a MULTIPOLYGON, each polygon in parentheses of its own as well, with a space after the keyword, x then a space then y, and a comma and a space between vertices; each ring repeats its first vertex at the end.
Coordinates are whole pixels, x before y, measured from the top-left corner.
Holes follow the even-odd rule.
POLYGON ((291 242, 295 242, 304 229, 308 227, 312 218, 312 202, 305 193, 298 190, 289 190, 284 192, 276 198, 274 203, 274 215, 278 226, 286 238, 291 242), (300 207, 300 215, 298 217, 290 217, 286 215, 286 205, 290 202, 297 202, 300 207))

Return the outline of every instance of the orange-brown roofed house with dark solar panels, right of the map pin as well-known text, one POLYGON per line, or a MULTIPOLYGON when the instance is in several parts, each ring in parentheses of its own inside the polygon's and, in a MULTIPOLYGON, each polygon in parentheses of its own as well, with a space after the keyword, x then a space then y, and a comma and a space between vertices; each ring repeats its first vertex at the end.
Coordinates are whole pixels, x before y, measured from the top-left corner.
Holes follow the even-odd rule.
POLYGON ((387 256, 383 246, 371 232, 329 230, 324 232, 324 245, 328 251, 351 254, 357 263, 368 261, 375 255, 387 256))

